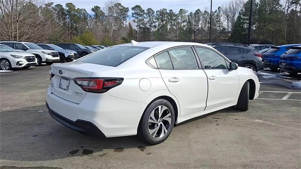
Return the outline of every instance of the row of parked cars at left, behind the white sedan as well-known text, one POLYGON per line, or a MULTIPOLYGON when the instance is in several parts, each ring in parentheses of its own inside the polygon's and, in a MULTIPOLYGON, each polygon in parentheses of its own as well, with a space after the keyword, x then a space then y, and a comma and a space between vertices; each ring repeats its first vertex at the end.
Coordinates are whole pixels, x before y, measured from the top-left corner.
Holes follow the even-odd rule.
POLYGON ((108 46, 80 44, 34 44, 23 41, 0 41, 0 69, 28 68, 42 63, 70 62, 108 46), (96 49, 97 48, 97 49, 96 49), (29 59, 30 58, 30 59, 29 59))

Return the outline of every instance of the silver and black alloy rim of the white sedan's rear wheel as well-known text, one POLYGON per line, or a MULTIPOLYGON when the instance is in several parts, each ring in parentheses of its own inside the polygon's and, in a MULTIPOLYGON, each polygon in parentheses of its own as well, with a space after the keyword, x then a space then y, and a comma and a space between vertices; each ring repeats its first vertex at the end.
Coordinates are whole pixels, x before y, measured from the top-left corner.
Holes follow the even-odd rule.
POLYGON ((156 107, 148 118, 148 132, 151 137, 164 137, 170 129, 171 120, 171 113, 166 106, 156 107))

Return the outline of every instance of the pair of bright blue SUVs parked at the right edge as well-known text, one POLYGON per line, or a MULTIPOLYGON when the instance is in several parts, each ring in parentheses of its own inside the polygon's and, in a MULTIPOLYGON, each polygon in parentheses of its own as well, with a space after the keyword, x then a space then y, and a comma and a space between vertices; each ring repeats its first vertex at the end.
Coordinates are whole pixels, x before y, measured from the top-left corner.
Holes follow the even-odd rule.
POLYGON ((280 68, 281 71, 296 75, 300 72, 301 66, 300 47, 301 44, 290 44, 275 46, 265 52, 260 52, 263 55, 265 67, 268 67, 273 71, 280 68))

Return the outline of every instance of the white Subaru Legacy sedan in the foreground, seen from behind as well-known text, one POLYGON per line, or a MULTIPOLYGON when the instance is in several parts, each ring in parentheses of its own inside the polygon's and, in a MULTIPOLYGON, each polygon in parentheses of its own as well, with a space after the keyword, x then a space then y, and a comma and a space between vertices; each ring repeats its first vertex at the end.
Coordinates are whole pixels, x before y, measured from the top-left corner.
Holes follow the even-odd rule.
POLYGON ((52 65, 49 114, 82 134, 166 140, 175 124, 230 106, 247 111, 258 97, 251 69, 212 47, 135 42, 52 65))

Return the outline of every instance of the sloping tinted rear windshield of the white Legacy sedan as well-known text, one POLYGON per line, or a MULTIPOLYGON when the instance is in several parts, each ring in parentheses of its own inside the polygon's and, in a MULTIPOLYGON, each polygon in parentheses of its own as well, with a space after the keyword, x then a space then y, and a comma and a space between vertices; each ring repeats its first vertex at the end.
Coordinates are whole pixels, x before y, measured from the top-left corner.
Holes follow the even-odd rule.
POLYGON ((77 61, 116 67, 147 49, 149 48, 137 46, 115 46, 97 51, 77 61))

